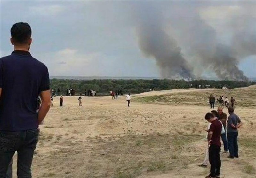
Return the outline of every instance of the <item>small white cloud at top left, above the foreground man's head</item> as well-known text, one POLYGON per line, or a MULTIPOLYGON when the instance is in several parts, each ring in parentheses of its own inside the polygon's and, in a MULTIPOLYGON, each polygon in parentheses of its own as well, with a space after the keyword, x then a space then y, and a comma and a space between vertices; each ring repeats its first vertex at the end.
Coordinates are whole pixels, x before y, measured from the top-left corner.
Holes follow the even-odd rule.
POLYGON ((52 16, 57 15, 60 12, 63 12, 65 7, 62 5, 40 5, 40 6, 31 6, 29 11, 33 15, 43 15, 43 16, 52 16))

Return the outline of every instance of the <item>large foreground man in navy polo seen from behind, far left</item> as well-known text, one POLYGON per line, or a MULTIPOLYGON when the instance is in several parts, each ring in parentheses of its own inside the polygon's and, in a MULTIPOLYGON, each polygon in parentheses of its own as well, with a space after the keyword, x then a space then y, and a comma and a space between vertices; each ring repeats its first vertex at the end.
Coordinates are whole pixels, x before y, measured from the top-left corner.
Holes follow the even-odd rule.
POLYGON ((16 23, 11 28, 14 51, 0 58, 0 178, 17 151, 17 176, 31 178, 31 164, 38 141, 38 125, 50 108, 47 67, 28 52, 31 28, 16 23), (37 97, 42 100, 37 109, 37 97))

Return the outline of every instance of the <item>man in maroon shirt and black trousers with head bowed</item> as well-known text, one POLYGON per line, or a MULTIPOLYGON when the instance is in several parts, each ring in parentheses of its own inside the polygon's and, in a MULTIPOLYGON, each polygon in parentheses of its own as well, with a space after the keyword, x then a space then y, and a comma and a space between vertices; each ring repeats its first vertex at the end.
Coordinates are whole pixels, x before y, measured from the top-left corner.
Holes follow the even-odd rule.
POLYGON ((205 178, 219 178, 220 177, 220 136, 221 136, 221 129, 222 124, 220 121, 214 117, 212 113, 207 113, 205 115, 205 119, 208 122, 211 122, 210 129, 208 131, 208 144, 209 144, 209 161, 211 164, 211 172, 210 175, 206 176, 205 178))

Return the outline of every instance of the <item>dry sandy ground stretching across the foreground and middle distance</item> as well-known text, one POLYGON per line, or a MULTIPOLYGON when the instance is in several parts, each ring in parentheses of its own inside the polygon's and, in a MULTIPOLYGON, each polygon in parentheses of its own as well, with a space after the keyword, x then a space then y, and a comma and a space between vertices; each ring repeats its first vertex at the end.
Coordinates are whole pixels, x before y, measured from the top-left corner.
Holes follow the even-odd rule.
MULTIPOLYGON (((154 91, 132 99, 195 90, 154 91)), ((197 164, 204 159, 203 129, 208 124, 204 115, 211 111, 209 107, 133 101, 127 107, 124 96, 83 97, 79 107, 77 98, 64 97, 63 107, 54 98, 55 105, 40 126, 33 177, 199 178, 208 174, 208 168, 197 164)), ((221 176, 255 178, 256 109, 236 108, 235 112, 244 123, 239 130, 240 158, 230 160, 221 153, 221 176)))

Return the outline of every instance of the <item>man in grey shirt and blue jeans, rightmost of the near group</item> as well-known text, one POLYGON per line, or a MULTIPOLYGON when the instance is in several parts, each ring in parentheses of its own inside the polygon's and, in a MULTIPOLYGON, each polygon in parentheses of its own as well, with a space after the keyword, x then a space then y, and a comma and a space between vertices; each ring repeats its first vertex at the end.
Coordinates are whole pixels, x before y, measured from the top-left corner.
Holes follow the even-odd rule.
POLYGON ((238 158, 238 144, 237 144, 237 136, 238 136, 238 128, 242 126, 242 122, 240 118, 234 114, 234 108, 228 108, 228 124, 227 124, 227 135, 228 135, 228 149, 229 156, 228 158, 238 158))

